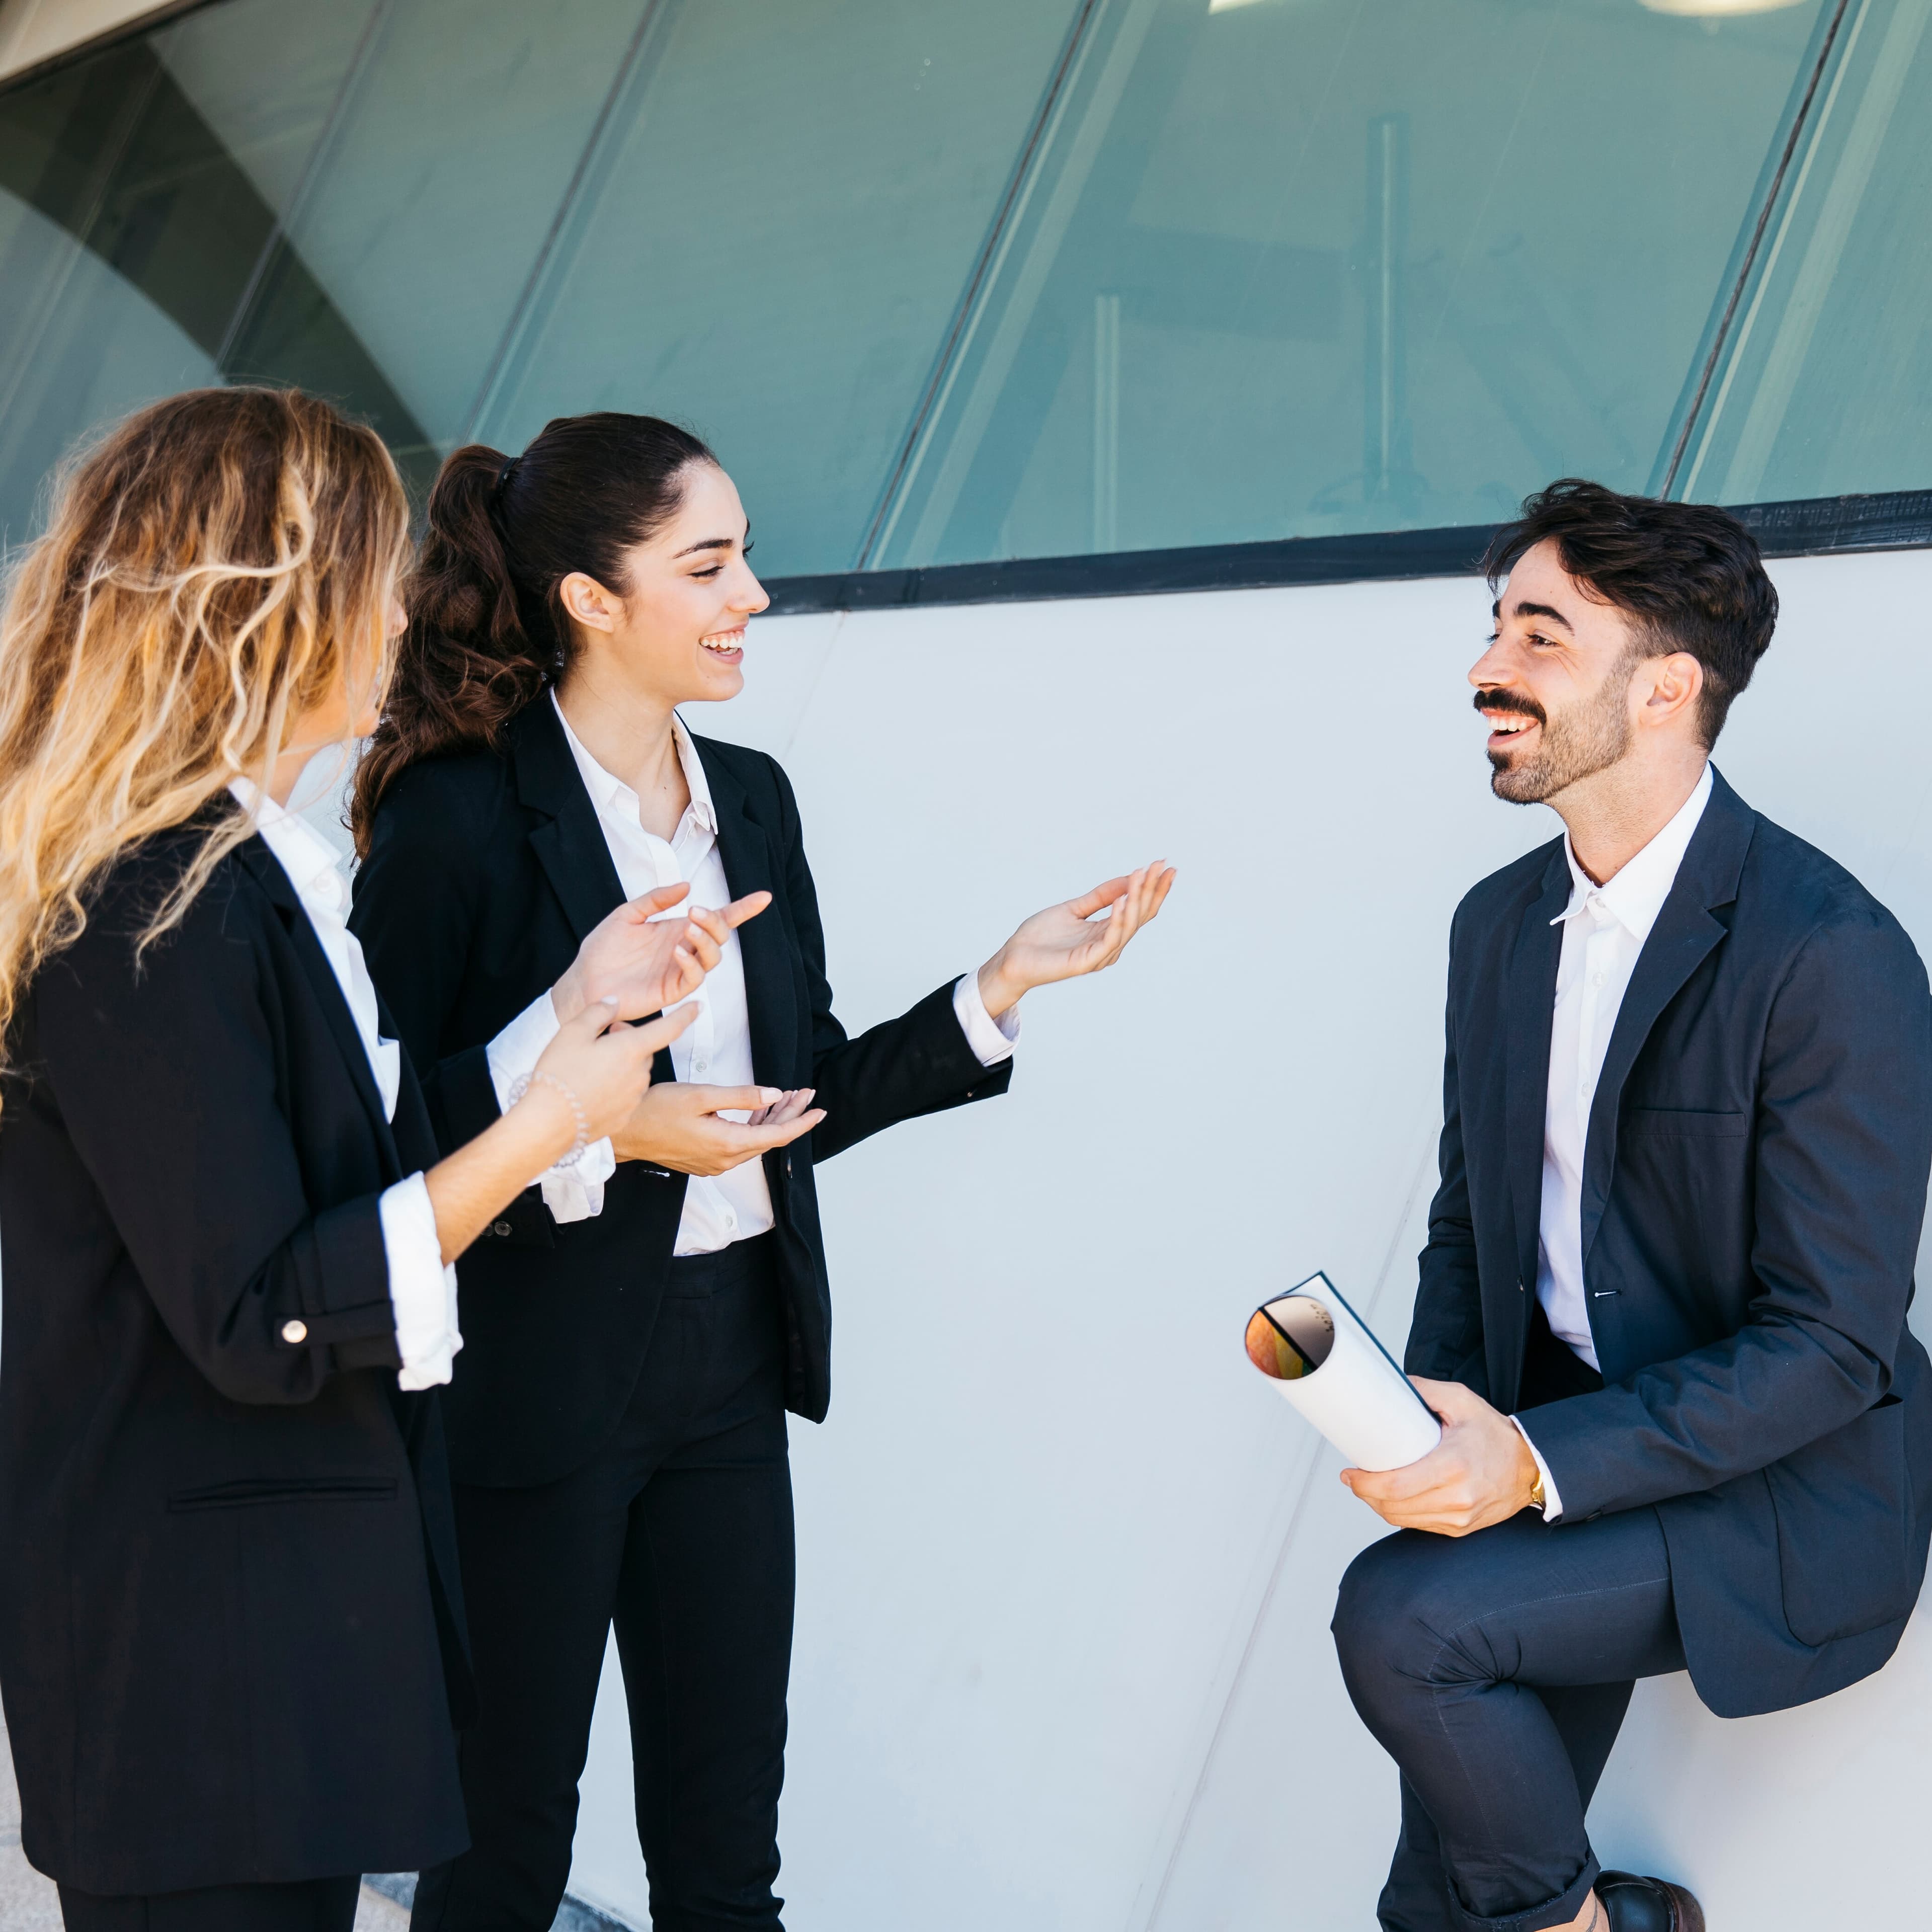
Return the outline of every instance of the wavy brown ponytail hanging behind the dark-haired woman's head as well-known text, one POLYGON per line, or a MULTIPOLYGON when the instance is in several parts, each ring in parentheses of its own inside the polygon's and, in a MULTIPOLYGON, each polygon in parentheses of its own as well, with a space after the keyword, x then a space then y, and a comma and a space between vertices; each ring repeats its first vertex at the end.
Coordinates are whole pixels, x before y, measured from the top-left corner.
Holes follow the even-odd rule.
POLYGON ((549 612, 537 605, 526 616, 510 570, 504 497, 514 483, 516 462, 481 442, 452 452, 437 473, 429 533, 404 587, 410 628, 383 721, 355 771, 350 827, 359 854, 369 850, 375 808, 406 765, 498 744, 504 724, 553 674, 549 612))

